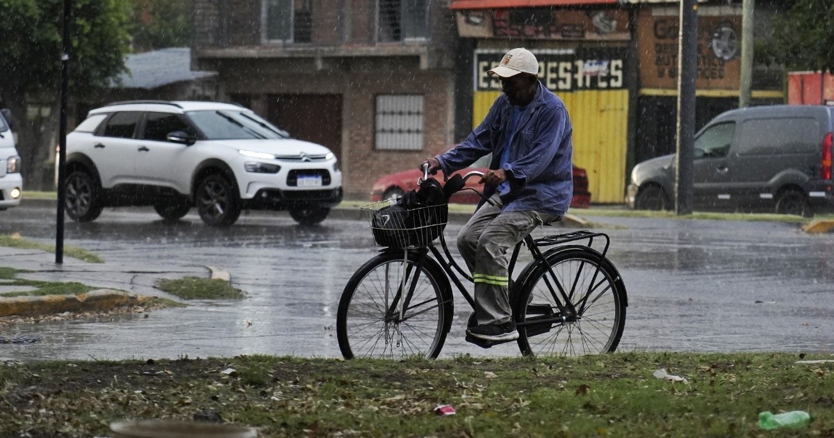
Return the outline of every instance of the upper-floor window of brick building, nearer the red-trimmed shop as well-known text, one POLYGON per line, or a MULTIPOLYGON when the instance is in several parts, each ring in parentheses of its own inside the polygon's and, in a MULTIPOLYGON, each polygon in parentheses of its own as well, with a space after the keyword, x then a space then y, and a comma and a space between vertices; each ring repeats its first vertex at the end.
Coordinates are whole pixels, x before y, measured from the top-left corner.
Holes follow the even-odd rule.
POLYGON ((377 40, 425 39, 429 34, 427 0, 377 0, 377 40))

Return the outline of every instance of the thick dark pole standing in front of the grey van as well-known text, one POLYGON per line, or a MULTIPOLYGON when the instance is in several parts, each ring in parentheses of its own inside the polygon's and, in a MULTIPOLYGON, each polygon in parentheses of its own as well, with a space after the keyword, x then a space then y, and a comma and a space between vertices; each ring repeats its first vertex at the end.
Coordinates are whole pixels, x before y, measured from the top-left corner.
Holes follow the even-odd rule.
POLYGON ((678 31, 677 163, 675 213, 692 213, 692 157, 695 149, 695 81, 698 68, 698 1, 681 0, 678 31))

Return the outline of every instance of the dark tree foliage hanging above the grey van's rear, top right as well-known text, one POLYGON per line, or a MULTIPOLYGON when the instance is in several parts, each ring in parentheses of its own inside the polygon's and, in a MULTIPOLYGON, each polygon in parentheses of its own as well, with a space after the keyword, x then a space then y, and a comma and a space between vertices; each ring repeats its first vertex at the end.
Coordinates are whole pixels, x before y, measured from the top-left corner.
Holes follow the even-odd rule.
POLYGON ((756 46, 756 58, 791 70, 834 72, 834 2, 784 0, 773 18, 773 35, 756 46))

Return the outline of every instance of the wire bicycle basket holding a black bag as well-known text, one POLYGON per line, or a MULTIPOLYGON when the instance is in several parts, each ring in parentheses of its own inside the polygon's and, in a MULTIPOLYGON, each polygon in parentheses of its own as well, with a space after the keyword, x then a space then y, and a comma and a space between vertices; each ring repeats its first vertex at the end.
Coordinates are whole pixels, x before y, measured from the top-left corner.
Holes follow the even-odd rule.
POLYGON ((449 221, 448 204, 404 204, 401 199, 389 199, 360 207, 367 214, 377 246, 425 247, 443 233, 449 221))

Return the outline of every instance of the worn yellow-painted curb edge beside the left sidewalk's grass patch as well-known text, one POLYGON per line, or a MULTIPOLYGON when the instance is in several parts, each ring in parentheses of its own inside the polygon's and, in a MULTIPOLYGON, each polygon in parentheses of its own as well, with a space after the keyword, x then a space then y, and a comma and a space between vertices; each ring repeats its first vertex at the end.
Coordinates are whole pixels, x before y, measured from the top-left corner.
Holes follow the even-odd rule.
POLYGON ((79 295, 0 298, 0 317, 53 315, 79 310, 112 310, 128 305, 143 305, 149 298, 113 289, 96 289, 79 295))

